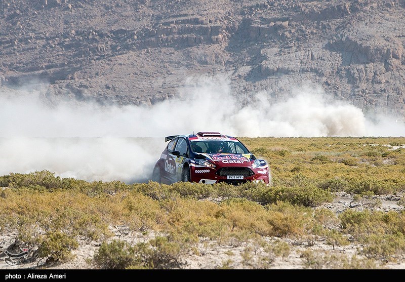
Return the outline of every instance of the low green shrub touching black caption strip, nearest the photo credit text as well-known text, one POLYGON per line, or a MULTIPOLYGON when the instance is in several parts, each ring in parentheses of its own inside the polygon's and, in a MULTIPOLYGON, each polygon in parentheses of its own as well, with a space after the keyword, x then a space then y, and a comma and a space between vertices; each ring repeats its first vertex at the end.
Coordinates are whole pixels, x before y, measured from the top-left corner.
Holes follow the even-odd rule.
POLYGON ((130 266, 142 266, 142 260, 136 253, 136 248, 125 241, 112 240, 103 242, 95 253, 95 264, 106 269, 125 269, 130 266))

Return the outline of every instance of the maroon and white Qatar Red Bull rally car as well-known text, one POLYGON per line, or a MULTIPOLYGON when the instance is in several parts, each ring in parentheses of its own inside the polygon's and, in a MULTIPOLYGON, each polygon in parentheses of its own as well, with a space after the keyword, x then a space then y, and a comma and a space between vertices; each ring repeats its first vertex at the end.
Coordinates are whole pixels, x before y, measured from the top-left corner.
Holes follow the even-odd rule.
POLYGON ((214 184, 270 183, 270 168, 238 139, 218 132, 173 135, 153 169, 152 180, 214 184))

